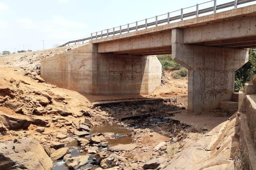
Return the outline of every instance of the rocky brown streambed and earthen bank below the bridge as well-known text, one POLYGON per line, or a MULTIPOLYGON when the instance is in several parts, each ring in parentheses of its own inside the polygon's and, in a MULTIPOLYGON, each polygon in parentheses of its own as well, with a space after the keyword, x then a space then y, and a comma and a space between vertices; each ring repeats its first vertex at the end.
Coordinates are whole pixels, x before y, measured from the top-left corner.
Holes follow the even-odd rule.
MULTIPOLYGON (((170 71, 163 72, 153 94, 141 96, 90 96, 44 82, 39 60, 65 50, 0 56, 2 168, 160 169, 205 136, 218 136, 206 134, 227 124, 226 113, 219 110, 202 115, 204 123, 191 121, 200 117, 186 114, 187 79, 176 80, 170 71), (36 150, 42 146, 44 158, 28 156, 38 153, 24 139, 36 142, 36 150), (41 161, 49 157, 52 162, 41 161)), ((219 149, 217 144, 213 146, 219 149)))

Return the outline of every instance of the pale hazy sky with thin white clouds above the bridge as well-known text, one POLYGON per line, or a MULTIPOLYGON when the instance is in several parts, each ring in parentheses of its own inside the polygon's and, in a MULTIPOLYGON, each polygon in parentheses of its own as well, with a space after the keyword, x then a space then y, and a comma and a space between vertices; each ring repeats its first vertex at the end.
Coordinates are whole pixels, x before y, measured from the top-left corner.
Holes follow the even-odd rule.
MULTIPOLYGON (((0 0, 0 52, 42 50, 43 42, 44 49, 50 49, 56 44, 90 37, 91 32, 206 1, 208 0, 0 0)), ((230 1, 217 0, 217 4, 230 1)))

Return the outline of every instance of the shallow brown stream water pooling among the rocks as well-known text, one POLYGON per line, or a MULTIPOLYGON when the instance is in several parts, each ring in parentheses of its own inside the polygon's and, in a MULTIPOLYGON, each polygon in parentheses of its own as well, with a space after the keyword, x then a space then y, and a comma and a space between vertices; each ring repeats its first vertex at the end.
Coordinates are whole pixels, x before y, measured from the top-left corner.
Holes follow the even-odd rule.
MULTIPOLYGON (((129 144, 133 142, 132 136, 131 136, 132 131, 129 131, 128 129, 121 127, 117 124, 112 124, 112 125, 103 124, 101 126, 92 127, 90 134, 92 135, 95 133, 113 133, 111 135, 111 138, 108 139, 108 146, 114 146, 118 144, 129 144)), ((90 136, 83 137, 83 138, 89 140, 90 136)), ((70 143, 66 147, 70 148, 70 154, 72 155, 71 157, 88 154, 86 152, 80 152, 81 148, 77 142, 70 143)), ((99 149, 100 151, 107 150, 108 147, 105 147, 105 148, 99 147, 99 149)), ((84 170, 85 168, 89 168, 89 167, 92 168, 91 170, 94 170, 95 168, 99 167, 95 164, 96 162, 94 161, 94 155, 93 154, 89 154, 89 155, 90 157, 89 157, 88 163, 85 166, 78 168, 77 170, 84 170)), ((69 168, 65 165, 65 162, 63 160, 56 160, 54 161, 54 166, 52 170, 69 170, 69 168)))

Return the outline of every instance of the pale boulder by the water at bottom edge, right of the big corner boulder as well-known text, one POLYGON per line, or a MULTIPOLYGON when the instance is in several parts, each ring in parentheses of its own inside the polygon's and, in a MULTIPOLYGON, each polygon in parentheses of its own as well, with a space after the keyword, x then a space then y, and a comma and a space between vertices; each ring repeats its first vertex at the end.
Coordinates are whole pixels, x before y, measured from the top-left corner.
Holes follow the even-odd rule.
POLYGON ((74 156, 71 158, 67 158, 65 160, 65 164, 68 166, 68 168, 77 169, 87 164, 88 160, 88 155, 74 156))

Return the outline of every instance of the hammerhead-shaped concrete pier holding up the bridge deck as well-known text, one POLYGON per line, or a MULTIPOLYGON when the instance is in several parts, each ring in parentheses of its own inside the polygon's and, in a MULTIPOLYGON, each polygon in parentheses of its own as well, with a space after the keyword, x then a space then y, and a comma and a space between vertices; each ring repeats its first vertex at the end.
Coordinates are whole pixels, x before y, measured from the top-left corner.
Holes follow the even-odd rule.
POLYGON ((172 29, 172 58, 188 69, 188 111, 200 113, 230 100, 234 72, 248 56, 248 49, 183 44, 183 30, 172 29))

